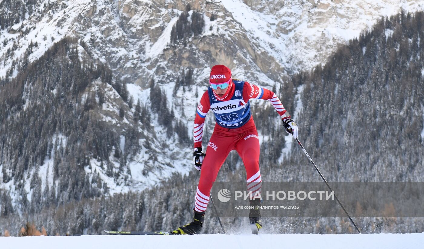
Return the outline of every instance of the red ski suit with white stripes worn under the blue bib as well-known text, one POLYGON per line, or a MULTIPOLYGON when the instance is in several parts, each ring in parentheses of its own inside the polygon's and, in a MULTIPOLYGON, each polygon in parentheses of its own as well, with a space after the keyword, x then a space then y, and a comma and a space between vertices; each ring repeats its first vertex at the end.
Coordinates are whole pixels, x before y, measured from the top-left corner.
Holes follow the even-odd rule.
MULTIPOLYGON (((213 98, 216 98, 218 101, 229 101, 231 103, 230 99, 234 96, 235 91, 234 82, 230 84, 230 89, 223 98, 219 98, 212 91, 214 94, 213 98)), ((194 148, 202 146, 204 120, 209 109, 211 109, 211 98, 209 94, 208 91, 204 92, 196 112, 193 129, 194 148)), ((237 94, 240 96, 240 91, 235 93, 236 96, 237 94)), ((251 98, 268 100, 283 120, 290 118, 288 112, 286 115, 286 110, 279 98, 270 90, 244 82, 242 96, 242 101, 245 103, 248 103, 251 98)), ((226 103, 222 104, 224 106, 226 105, 226 103)), ((222 108, 220 110, 220 114, 222 114, 222 108)), ((213 109, 212 111, 215 112, 213 109)), ((218 171, 232 150, 237 151, 245 165, 248 191, 252 191, 253 194, 255 192, 260 193, 262 178, 259 172, 259 137, 253 117, 250 117, 240 128, 225 128, 215 123, 214 131, 206 148, 206 157, 202 163, 200 180, 195 194, 194 210, 198 212, 206 210, 209 202, 209 191, 212 188, 213 182, 215 182, 218 171)))

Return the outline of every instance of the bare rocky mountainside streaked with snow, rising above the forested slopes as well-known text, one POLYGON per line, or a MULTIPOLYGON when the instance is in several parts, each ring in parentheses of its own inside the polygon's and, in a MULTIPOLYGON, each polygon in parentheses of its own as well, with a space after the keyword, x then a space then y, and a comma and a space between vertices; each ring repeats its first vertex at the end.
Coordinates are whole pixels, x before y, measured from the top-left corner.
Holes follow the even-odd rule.
POLYGON ((229 65, 240 78, 272 85, 282 75, 325 62, 338 44, 358 37, 381 17, 399 13, 401 8, 406 12, 424 8, 420 1, 396 0, 32 2, 17 6, 32 9, 31 13, 16 16, 8 13, 14 1, 3 1, 3 14, 12 20, 2 25, 0 33, 0 76, 6 76, 31 41, 39 46, 29 62, 55 41, 71 36, 88 45, 93 59, 142 89, 149 78, 165 82, 176 78, 182 67, 196 69, 195 83, 201 83, 209 64, 215 62, 229 65), (187 46, 175 47, 170 43, 172 27, 187 4, 204 14, 204 32, 187 46), (9 48, 13 53, 6 57, 9 48))

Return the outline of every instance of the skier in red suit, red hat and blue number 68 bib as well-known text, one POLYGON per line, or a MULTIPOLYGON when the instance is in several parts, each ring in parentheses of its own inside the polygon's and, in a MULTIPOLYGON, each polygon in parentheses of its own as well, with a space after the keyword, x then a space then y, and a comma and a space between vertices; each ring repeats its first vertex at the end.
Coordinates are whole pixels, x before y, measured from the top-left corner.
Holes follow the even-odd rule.
MULTIPOLYGON (((236 150, 243 160, 247 174, 247 188, 255 196, 260 193, 262 178, 259 172, 259 137, 250 111, 251 98, 265 99, 271 102, 287 131, 296 139, 298 127, 286 111, 279 98, 270 90, 258 87, 247 81, 232 78, 231 70, 224 65, 212 67, 209 83, 197 107, 194 120, 194 166, 201 171, 195 193, 193 221, 180 226, 173 234, 195 234, 200 232, 207 204, 209 191, 228 154, 236 150), (202 153, 202 135, 206 114, 212 110, 215 114, 215 128, 206 148, 202 153)), ((259 205, 258 198, 251 198, 250 204, 259 205)), ((251 209, 250 223, 262 228, 259 209, 251 209)))

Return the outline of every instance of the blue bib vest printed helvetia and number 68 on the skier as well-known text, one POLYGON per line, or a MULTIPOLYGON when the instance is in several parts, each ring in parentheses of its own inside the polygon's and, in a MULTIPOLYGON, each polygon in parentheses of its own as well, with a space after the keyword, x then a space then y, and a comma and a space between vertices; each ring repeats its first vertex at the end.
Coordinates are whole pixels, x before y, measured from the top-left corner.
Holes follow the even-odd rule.
POLYGON ((216 123, 229 129, 243 126, 251 117, 250 103, 243 100, 244 81, 233 80, 233 83, 234 93, 228 101, 217 100, 212 92, 212 87, 208 89, 210 109, 215 114, 216 123))

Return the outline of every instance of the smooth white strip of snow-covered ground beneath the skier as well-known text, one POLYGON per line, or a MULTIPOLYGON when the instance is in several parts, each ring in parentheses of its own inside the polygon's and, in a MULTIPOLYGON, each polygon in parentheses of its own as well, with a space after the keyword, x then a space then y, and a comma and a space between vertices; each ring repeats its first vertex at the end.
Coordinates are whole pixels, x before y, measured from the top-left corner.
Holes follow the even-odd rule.
POLYGON ((263 234, 263 235, 84 235, 0 237, 3 249, 119 248, 422 248, 424 233, 409 234, 263 234))

